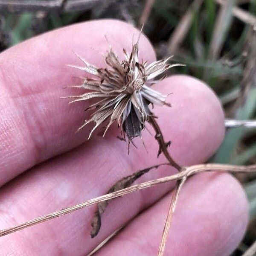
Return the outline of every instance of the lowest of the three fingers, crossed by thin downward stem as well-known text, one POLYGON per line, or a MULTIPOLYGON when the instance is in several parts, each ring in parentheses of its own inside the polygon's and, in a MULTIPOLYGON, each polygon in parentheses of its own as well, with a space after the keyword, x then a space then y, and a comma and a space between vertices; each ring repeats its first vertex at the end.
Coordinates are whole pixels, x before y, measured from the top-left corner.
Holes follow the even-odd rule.
MULTIPOLYGON (((135 218, 96 255, 157 255, 171 193, 135 218)), ((231 175, 204 173, 180 192, 165 255, 230 255, 248 221, 246 195, 231 175)))

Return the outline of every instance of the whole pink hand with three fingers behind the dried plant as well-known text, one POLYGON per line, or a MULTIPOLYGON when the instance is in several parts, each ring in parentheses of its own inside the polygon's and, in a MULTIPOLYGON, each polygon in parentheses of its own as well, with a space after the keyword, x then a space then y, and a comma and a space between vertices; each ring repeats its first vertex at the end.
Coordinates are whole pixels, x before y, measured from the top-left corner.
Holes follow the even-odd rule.
MULTIPOLYGON (((138 149, 131 147, 128 155, 127 144, 116 139, 115 125, 104 139, 98 129, 86 142, 92 126, 75 131, 88 117, 88 103, 68 105, 68 99, 59 99, 82 93, 63 89, 81 83, 73 76, 86 75, 64 66, 82 65, 72 50, 104 67, 101 53, 109 49, 104 35, 122 58, 122 48, 131 49, 134 34, 136 38, 136 29, 120 21, 91 21, 32 38, 0 54, 0 182, 6 183, 0 188, 0 229, 102 195, 125 175, 166 161, 163 156, 157 160, 157 143, 147 131, 143 140, 148 154, 139 139, 138 149)), ((139 48, 140 58, 154 61, 144 36, 139 48)), ((173 158, 181 165, 206 161, 224 137, 224 115, 215 94, 189 76, 171 76, 155 87, 172 93, 172 108, 155 107, 154 112, 166 140, 172 140, 173 158)), ((138 182, 172 172, 162 167, 138 182)), ((0 255, 86 255, 131 219, 98 254, 155 255, 172 188, 173 183, 166 183, 114 200, 94 239, 90 219, 95 206, 0 238, 0 255)), ((166 255, 228 255, 241 240, 247 220, 247 200, 231 175, 192 177, 181 192, 166 255)))

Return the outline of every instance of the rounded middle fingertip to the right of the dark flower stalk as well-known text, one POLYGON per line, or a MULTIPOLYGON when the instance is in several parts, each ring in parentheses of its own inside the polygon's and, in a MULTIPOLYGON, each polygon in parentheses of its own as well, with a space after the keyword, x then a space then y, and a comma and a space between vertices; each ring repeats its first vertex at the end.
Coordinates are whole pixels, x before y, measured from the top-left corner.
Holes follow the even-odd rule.
POLYGON ((155 86, 166 95, 171 93, 167 101, 172 108, 156 106, 154 112, 172 140, 174 159, 184 165, 207 160, 221 145, 225 132, 224 112, 216 94, 203 81, 184 75, 170 76, 155 86), (166 120, 171 125, 165 125, 166 120), (184 156, 187 147, 191 154, 184 156))

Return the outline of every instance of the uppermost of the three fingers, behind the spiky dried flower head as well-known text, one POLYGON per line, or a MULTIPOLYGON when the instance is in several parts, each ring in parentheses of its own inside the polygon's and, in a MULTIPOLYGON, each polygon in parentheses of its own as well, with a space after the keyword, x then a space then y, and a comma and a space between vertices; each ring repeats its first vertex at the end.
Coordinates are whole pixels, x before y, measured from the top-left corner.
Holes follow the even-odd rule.
MULTIPOLYGON (((122 56, 122 48, 131 50, 138 33, 124 22, 98 20, 48 32, 0 54, 0 185, 87 140, 89 128, 75 133, 86 119, 87 103, 68 105, 68 99, 60 99, 81 94, 64 87, 82 82, 73 76, 87 75, 65 66, 82 66, 74 52, 104 67, 102 54, 109 50, 105 35, 122 56)), ((140 58, 155 59, 144 36, 140 58)))

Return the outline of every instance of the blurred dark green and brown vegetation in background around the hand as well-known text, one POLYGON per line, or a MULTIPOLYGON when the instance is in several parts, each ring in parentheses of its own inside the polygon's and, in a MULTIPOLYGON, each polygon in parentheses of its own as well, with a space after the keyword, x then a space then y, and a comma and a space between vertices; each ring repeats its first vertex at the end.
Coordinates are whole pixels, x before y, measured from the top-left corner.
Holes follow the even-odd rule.
MULTIPOLYGON (((145 23, 157 57, 174 55, 186 64, 172 72, 207 82, 227 118, 255 119, 256 0, 0 0, 0 51, 51 29, 107 17, 138 28, 145 23)), ((228 128, 210 161, 256 164, 256 128, 228 128)), ((232 255, 256 255, 256 174, 236 177, 250 202, 250 224, 232 255)))

